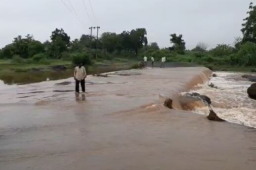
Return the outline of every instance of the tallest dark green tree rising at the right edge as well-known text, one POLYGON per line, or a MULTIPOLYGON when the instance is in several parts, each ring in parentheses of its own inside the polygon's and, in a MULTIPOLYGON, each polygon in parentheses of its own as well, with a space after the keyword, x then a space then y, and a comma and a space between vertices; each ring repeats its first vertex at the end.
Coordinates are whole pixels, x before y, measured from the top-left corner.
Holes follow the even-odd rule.
POLYGON ((248 41, 256 43, 256 5, 252 2, 250 3, 247 14, 249 16, 244 19, 246 23, 242 24, 244 28, 241 29, 244 35, 243 43, 248 41))

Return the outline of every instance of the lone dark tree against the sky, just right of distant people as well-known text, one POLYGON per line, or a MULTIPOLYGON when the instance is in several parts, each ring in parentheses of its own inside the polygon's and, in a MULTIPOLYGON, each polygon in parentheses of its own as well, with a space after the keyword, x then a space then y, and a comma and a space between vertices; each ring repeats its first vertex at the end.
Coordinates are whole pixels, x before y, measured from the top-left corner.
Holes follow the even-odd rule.
POLYGON ((178 54, 184 54, 185 49, 186 49, 186 43, 185 41, 182 39, 182 34, 179 34, 179 36, 177 36, 175 33, 171 34, 171 43, 173 44, 174 50, 178 53, 178 54))

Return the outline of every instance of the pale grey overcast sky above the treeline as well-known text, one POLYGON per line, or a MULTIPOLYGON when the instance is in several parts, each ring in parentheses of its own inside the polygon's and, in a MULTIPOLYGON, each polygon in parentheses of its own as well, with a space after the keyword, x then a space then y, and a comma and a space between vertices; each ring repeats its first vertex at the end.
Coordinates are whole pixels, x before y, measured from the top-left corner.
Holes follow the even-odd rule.
MULTIPOLYGON (((146 28, 149 42, 170 46, 170 33, 183 34, 186 47, 199 41, 209 47, 233 44, 241 36, 248 6, 256 0, 1 0, 0 48, 17 35, 33 34, 49 39, 51 31, 63 28, 72 39, 89 33, 90 26, 122 32, 146 28), (67 9, 63 2, 68 6, 67 9), (75 12, 69 3, 71 2, 75 12), (95 16, 92 14, 94 11, 95 16), (76 14, 77 13, 77 14, 76 14), (77 16, 78 15, 78 16, 77 16)), ((96 31, 95 31, 96 33, 96 31)))

